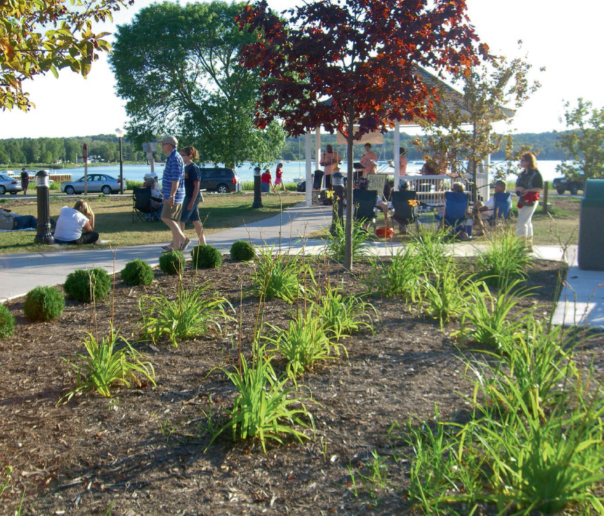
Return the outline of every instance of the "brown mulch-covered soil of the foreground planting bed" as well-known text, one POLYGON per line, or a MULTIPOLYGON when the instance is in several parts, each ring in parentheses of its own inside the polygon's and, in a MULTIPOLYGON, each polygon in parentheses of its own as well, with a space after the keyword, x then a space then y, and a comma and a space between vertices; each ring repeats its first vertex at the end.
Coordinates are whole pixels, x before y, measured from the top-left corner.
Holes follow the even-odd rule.
MULTIPOLYGON (((549 313, 558 266, 536 262, 528 285, 540 288, 523 306, 538 303, 549 313)), ((240 285, 250 285, 252 269, 226 259, 196 279, 194 271, 184 274, 186 286, 210 281, 231 301, 237 320, 241 314, 246 355, 258 299, 244 295, 240 304, 240 285)), ((351 275, 320 264, 315 273, 361 292, 366 270, 360 264, 351 275)), ((177 278, 156 271, 151 287, 128 287, 117 276, 115 289, 95 310, 67 301, 52 322, 26 320, 22 299, 9 305, 18 324, 12 338, 0 341, 0 468, 13 467, 10 479, 6 469, 0 475, 4 515, 21 500, 24 515, 401 514, 411 508, 405 496, 409 461, 390 459, 388 429, 410 416, 430 418, 434 404, 444 419, 465 409, 460 394, 469 393, 469 384, 460 376, 458 343, 448 337, 457 325, 441 332, 416 307, 373 298, 376 331, 345 339, 348 359, 324 363, 299 382, 312 392, 308 407, 316 430, 306 430, 310 440, 268 441, 265 454, 259 442, 234 443, 225 432, 204 453, 210 442, 205 413, 231 407, 235 394, 226 375, 212 368, 235 367, 238 322, 226 323, 221 336, 182 341, 178 348, 167 339, 153 346, 137 341, 137 301, 158 290, 174 297, 177 278), (99 337, 107 334, 112 313, 121 335, 153 362, 157 386, 116 388, 114 398, 86 393, 57 407, 75 379, 62 358, 85 352, 89 327, 99 337), (371 476, 374 450, 386 456, 387 482, 365 487, 357 476, 355 492, 349 468, 371 476)), ((265 319, 285 327, 294 311, 270 300, 265 319)), ((600 344, 596 339, 592 346, 600 344)))

